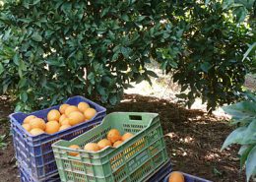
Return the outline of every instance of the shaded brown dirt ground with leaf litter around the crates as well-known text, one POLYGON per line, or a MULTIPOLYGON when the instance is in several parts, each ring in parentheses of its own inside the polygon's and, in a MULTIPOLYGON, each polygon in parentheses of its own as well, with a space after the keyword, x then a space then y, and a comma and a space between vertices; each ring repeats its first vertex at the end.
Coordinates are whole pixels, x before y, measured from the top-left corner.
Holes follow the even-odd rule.
MULTIPOLYGON (((0 118, 11 113, 8 99, 0 97, 0 118)), ((126 94, 113 111, 157 112, 165 135, 168 154, 174 170, 204 177, 215 182, 245 181, 239 170, 238 147, 220 152, 231 128, 224 118, 208 116, 201 110, 189 110, 165 99, 126 94)), ((8 146, 0 150, 0 182, 18 182, 19 172, 14 159, 9 122, 0 120, 0 136, 6 134, 8 146)), ((0 141, 1 145, 1 141, 0 141)))

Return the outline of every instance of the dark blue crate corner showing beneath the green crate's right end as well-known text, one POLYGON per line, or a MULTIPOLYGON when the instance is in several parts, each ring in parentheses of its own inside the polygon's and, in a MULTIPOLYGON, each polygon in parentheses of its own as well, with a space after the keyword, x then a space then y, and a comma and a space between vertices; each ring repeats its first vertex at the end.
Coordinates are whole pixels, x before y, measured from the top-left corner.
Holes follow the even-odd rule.
POLYGON ((171 172, 171 163, 168 161, 165 165, 161 166, 158 172, 152 176, 148 182, 162 182, 164 177, 171 172))

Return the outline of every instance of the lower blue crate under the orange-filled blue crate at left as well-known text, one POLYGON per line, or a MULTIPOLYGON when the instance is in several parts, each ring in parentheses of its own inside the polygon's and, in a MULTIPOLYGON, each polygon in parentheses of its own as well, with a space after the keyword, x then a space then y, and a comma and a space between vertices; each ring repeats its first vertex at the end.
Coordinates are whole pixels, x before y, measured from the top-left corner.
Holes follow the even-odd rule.
POLYGON ((42 178, 38 180, 32 177, 32 174, 30 173, 30 171, 28 171, 28 166, 22 165, 21 163, 19 163, 18 165, 20 170, 21 182, 60 182, 58 174, 50 175, 46 178, 42 178))

